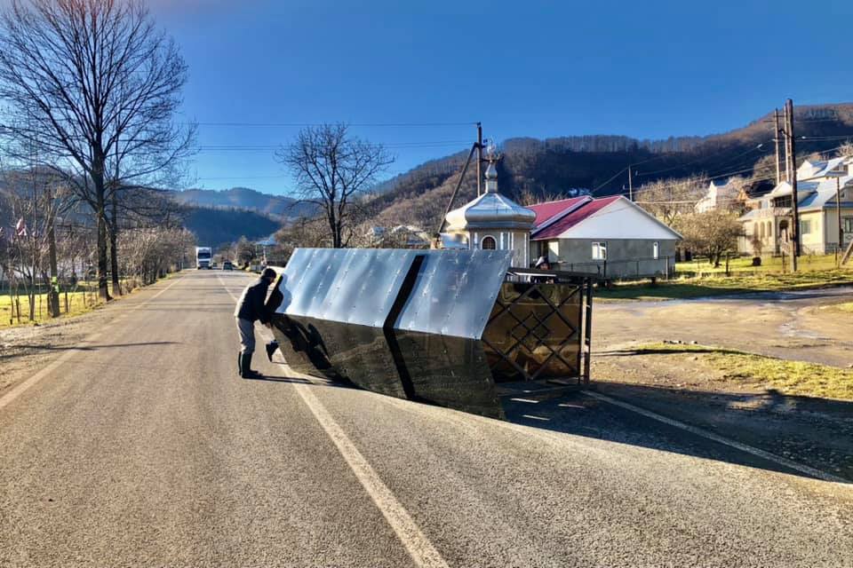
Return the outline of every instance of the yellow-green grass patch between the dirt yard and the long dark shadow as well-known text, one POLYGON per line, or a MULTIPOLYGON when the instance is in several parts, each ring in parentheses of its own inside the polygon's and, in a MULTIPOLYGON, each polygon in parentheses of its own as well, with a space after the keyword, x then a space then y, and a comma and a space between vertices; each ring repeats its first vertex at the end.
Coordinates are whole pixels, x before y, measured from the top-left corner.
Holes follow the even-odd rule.
POLYGON ((788 395, 853 400, 853 369, 776 359, 709 345, 647 343, 632 351, 638 355, 698 357, 727 382, 776 389, 788 395))

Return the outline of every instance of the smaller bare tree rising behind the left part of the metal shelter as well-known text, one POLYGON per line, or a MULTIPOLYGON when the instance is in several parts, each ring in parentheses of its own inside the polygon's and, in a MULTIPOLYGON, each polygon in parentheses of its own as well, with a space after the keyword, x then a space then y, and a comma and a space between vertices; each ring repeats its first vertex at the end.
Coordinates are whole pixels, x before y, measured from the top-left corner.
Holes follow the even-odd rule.
POLYGON ((350 136, 346 124, 323 124, 299 131, 275 159, 296 178, 299 201, 323 211, 334 248, 347 246, 356 225, 358 197, 394 162, 385 148, 350 136))

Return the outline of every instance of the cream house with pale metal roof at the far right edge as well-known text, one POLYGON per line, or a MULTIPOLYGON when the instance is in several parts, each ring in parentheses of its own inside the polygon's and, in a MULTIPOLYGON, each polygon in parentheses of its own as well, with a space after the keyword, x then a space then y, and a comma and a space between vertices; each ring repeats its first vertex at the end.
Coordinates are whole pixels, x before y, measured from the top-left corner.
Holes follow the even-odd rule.
MULTIPOLYGON (((801 253, 823 255, 846 247, 853 238, 853 159, 807 160, 796 176, 801 253)), ((792 193, 791 184, 783 181, 769 193, 746 201, 749 210, 739 217, 744 236, 738 239, 738 252, 790 253, 792 193)))

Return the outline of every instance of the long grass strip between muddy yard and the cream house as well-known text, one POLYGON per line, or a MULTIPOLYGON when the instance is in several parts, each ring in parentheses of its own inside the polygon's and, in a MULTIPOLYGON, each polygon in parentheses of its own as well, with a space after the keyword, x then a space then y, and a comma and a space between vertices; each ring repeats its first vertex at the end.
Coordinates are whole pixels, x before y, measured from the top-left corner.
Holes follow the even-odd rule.
POLYGON ((704 296, 722 296, 746 292, 773 292, 826 286, 853 285, 853 266, 800 272, 733 272, 731 276, 713 274, 704 277, 679 277, 659 281, 615 283, 598 288, 594 296, 602 300, 672 300, 704 296))

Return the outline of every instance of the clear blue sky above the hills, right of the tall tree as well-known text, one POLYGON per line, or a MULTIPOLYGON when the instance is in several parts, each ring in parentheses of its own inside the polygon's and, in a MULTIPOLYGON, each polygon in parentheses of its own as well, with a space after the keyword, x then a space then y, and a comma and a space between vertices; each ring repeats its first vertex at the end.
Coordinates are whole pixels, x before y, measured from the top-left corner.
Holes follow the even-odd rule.
POLYGON ((193 185, 211 189, 288 193, 271 148, 293 123, 355 124, 397 156, 393 174, 465 148, 476 121, 498 140, 666 138, 737 128, 787 97, 853 101, 849 1, 150 5, 187 59, 199 144, 255 146, 198 154, 193 185))

